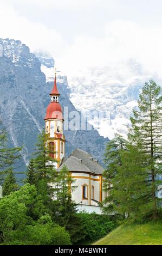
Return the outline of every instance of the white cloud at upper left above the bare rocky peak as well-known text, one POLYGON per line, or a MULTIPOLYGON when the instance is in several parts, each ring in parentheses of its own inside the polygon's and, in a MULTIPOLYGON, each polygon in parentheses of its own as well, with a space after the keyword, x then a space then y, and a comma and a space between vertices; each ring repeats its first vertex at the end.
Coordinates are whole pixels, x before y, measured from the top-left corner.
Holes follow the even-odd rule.
POLYGON ((2 1, 0 9, 1 38, 21 40, 31 51, 43 50, 57 56, 63 47, 62 35, 55 29, 50 29, 39 22, 31 22, 17 13, 15 8, 2 1))

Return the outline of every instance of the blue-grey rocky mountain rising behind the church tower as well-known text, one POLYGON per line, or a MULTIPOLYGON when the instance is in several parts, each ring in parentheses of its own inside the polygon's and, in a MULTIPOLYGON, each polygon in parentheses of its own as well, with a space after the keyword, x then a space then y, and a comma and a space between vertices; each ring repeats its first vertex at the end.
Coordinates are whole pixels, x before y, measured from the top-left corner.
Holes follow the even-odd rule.
MULTIPOLYGON (((9 144, 15 147, 23 145, 22 158, 28 164, 36 137, 44 127, 43 118, 53 87, 52 80, 46 82, 46 75, 41 68, 53 69, 54 60, 42 53, 31 53, 29 47, 19 40, 0 39, 0 45, 3 48, 3 56, 0 57, 1 118, 9 133, 9 144)), ((62 107, 68 107, 69 112, 76 111, 69 100, 67 77, 58 76, 57 86, 62 107)), ((69 130, 64 134, 67 139, 66 155, 74 148, 81 148, 102 162, 108 138, 103 138, 94 129, 69 130)))

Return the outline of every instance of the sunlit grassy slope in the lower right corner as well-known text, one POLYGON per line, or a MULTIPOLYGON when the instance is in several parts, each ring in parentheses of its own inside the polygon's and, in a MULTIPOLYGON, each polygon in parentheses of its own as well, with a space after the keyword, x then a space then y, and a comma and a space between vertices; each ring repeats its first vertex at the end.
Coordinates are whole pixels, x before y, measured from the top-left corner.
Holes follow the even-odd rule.
POLYGON ((94 245, 162 245, 162 221, 121 225, 94 245))

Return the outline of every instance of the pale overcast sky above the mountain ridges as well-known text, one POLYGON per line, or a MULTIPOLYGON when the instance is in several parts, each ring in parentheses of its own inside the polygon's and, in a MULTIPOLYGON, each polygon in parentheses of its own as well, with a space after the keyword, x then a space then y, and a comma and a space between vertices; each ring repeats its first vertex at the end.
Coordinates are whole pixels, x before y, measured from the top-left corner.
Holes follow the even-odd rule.
POLYGON ((161 0, 1 0, 0 38, 44 51, 67 76, 134 58, 162 78, 161 0))

